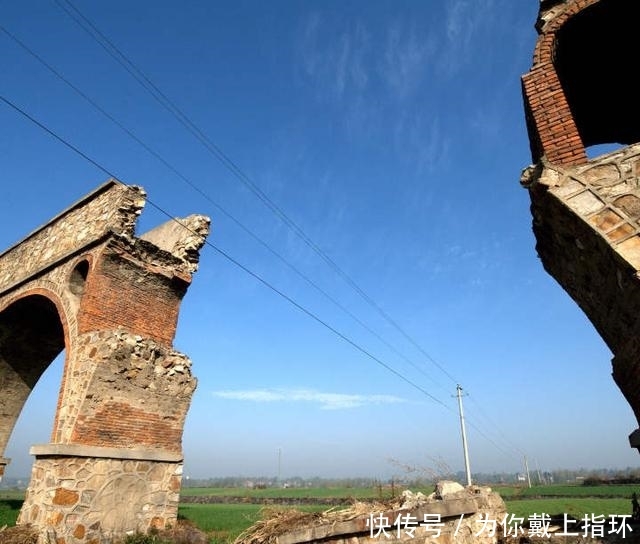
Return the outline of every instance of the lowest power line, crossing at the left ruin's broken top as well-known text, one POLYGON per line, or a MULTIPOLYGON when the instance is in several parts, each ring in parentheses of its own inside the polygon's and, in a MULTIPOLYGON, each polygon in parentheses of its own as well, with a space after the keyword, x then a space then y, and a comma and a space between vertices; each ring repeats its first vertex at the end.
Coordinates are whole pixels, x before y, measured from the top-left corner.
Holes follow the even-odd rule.
MULTIPOLYGON (((74 146, 72 143, 70 143, 69 141, 65 140, 64 138, 62 138, 61 136, 59 136, 58 134, 56 134, 53 130, 51 130, 50 128, 48 128, 46 125, 44 125, 43 123, 41 123, 40 121, 38 121, 36 118, 34 118, 33 116, 31 116, 30 114, 28 114, 25 110, 23 110, 22 108, 20 108, 19 106, 17 106, 15 103, 13 103, 11 100, 9 100, 8 98, 0 95, 0 100, 2 102, 4 102, 7 106, 9 106, 10 108, 12 108, 14 111, 16 111, 17 113, 19 113, 20 115, 22 115, 23 117, 25 117, 26 119, 28 119, 31 123, 33 123, 34 125, 38 126, 40 129, 44 130, 45 132, 47 132, 47 134, 49 134, 50 136, 52 136, 53 138, 55 138, 58 142, 60 142, 61 144, 63 144, 65 147, 67 147, 68 149, 72 150, 74 153, 78 154, 79 156, 81 156, 83 159, 85 159, 86 161, 88 161, 89 163, 91 163, 93 166, 95 166, 96 168, 98 168, 100 171, 102 171, 103 173, 105 173, 107 176, 109 176, 110 178, 113 178, 114 180, 118 181, 119 183, 122 183, 123 185, 126 185, 124 182, 122 182, 120 180, 120 178, 118 178, 117 175, 115 175, 114 173, 112 173, 110 170, 108 170, 107 168, 105 168, 104 166, 102 166, 99 162, 97 162, 96 160, 92 159, 91 157, 89 157, 86 153, 84 153, 83 151, 81 151, 78 147, 74 146)), ((178 223, 180 226, 182 226, 183 228, 190 230, 189 227, 187 227, 186 225, 184 225, 179 219, 177 219, 176 217, 174 217, 173 215, 169 214, 167 211, 165 211, 162 207, 160 207, 159 205, 157 205, 156 203, 154 203, 151 199, 147 199, 147 201, 149 202, 149 204, 151 204, 154 208, 156 208, 159 212, 161 212, 163 215, 165 215, 166 217, 168 217, 170 220, 175 221, 176 223, 178 223)), ((277 295, 279 295, 280 297, 282 297, 283 299, 285 299, 287 302, 289 302, 292 306, 294 306, 295 308, 297 308, 298 310, 300 310, 301 312, 303 312, 304 314, 306 314, 308 317, 310 317, 311 319, 313 319, 314 321, 316 321, 317 323, 319 323, 320 325, 322 325, 323 327, 325 327, 326 329, 328 329, 329 331, 331 331, 333 334, 335 334, 336 336, 338 336, 339 338, 341 338, 342 340, 344 340, 345 342, 347 342, 349 345, 351 345, 353 348, 355 348, 356 350, 358 350, 360 353, 362 353, 363 355, 366 355, 367 357, 369 357, 371 360, 373 360, 375 363, 377 363, 378 365, 382 366, 383 368, 385 368, 386 370, 388 370, 389 372, 391 372, 392 374, 394 374, 396 377, 400 378, 401 380, 403 380, 405 383, 409 384, 411 387, 417 389, 418 391, 420 391, 421 393, 423 393, 425 396, 429 397, 431 400, 433 400, 434 402, 436 402, 437 404, 440 404, 441 406, 443 406, 444 408, 446 408, 449 411, 453 411, 451 407, 449 407, 447 404, 445 404, 444 402, 442 402, 440 399, 436 398, 435 396, 433 396, 431 393, 429 393, 426 389, 424 389, 423 387, 421 387, 420 385, 416 384, 415 382, 411 381, 409 378, 407 378, 406 376, 404 376, 403 374, 401 374, 400 372, 398 372, 397 370, 395 370, 392 366, 390 366, 389 364, 385 363, 382 359, 376 357, 375 355, 373 355, 370 351, 368 351, 367 349, 363 348, 362 346, 360 346, 357 342, 355 342, 354 340, 352 340, 351 338, 349 338, 346 334, 340 332, 338 329, 336 329, 335 327, 333 327, 332 325, 330 325, 328 322, 326 322, 325 320, 323 320, 322 318, 320 318, 319 316, 317 316, 315 313, 313 313, 311 310, 307 309, 305 306, 303 306, 302 304, 300 304, 299 302, 297 302, 296 300, 294 300, 292 297, 290 297, 289 295, 287 295, 284 291, 278 289, 277 287, 275 287, 272 283, 270 283, 269 281, 267 281, 266 279, 264 279, 262 276, 260 276, 259 274, 257 274, 256 272, 253 272, 251 269, 249 269, 247 266, 243 265, 242 263, 240 263, 237 259, 233 258, 231 255, 229 255, 227 252, 225 252, 224 250, 220 249, 219 247, 217 247, 215 244, 213 244, 212 242, 210 242, 209 240, 205 240, 205 244, 210 247, 211 249, 213 249, 214 251, 216 251, 219 255, 221 255, 222 257, 224 257, 225 259, 227 259, 229 262, 231 262, 232 264, 234 264, 235 266, 237 266, 238 268, 240 268, 242 271, 244 271, 245 273, 247 273, 248 275, 250 275, 251 277, 253 277, 254 279, 256 279, 257 281, 259 281, 260 283, 262 283, 265 287, 267 287, 268 289, 270 289, 271 291, 273 291, 274 293, 276 293, 277 295)))

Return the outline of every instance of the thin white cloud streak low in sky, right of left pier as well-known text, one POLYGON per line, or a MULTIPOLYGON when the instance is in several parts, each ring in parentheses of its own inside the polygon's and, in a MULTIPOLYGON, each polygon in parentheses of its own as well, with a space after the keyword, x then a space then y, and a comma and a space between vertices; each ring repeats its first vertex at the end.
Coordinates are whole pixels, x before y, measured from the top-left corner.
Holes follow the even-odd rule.
POLYGON ((322 410, 358 408, 370 404, 397 404, 405 402, 393 395, 348 395, 323 393, 311 389, 249 389, 214 391, 213 396, 248 402, 308 402, 320 405, 322 410))

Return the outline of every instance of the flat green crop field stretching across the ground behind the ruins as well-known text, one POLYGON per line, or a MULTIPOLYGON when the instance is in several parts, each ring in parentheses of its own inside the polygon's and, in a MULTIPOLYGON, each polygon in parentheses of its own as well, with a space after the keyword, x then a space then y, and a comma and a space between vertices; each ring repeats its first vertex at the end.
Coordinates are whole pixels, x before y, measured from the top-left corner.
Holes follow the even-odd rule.
MULTIPOLYGON (((637 486, 580 486, 550 485, 528 487, 495 487, 505 500, 507 511, 526 519, 533 514, 556 516, 568 514, 581 518, 584 515, 624 515, 631 513, 631 494, 637 486)), ((425 494, 431 488, 423 489, 425 494)), ((397 495, 399 490, 395 491, 397 495)), ((413 491, 417 491, 414 489, 413 491)), ((388 488, 384 497, 376 488, 308 488, 308 489, 244 489, 244 488, 183 488, 184 497, 233 497, 252 499, 380 499, 391 496, 388 488)), ((14 525, 24 492, 0 492, 0 527, 14 525)), ((206 531, 211 542, 232 542, 243 530, 260 519, 264 505, 261 504, 195 504, 181 503, 178 515, 206 531)), ((286 507, 282 507, 286 508, 286 507)), ((304 511, 321 511, 326 505, 296 507, 304 511)))

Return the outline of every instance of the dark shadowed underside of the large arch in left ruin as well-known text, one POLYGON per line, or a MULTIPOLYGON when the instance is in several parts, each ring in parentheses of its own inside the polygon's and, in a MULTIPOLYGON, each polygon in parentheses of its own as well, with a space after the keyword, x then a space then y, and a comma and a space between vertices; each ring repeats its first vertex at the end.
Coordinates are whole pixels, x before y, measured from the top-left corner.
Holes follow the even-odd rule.
POLYGON ((0 312, 0 458, 36 383, 65 348, 55 304, 30 295, 0 312))

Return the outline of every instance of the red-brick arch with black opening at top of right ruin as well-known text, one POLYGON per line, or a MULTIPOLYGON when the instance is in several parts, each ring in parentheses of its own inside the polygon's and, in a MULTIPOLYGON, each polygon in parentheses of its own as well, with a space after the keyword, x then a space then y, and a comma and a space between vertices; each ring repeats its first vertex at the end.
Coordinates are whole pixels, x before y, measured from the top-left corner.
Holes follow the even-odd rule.
POLYGON ((544 0, 531 70, 522 78, 533 162, 587 161, 596 145, 640 142, 640 108, 626 74, 640 53, 639 2, 544 0))

